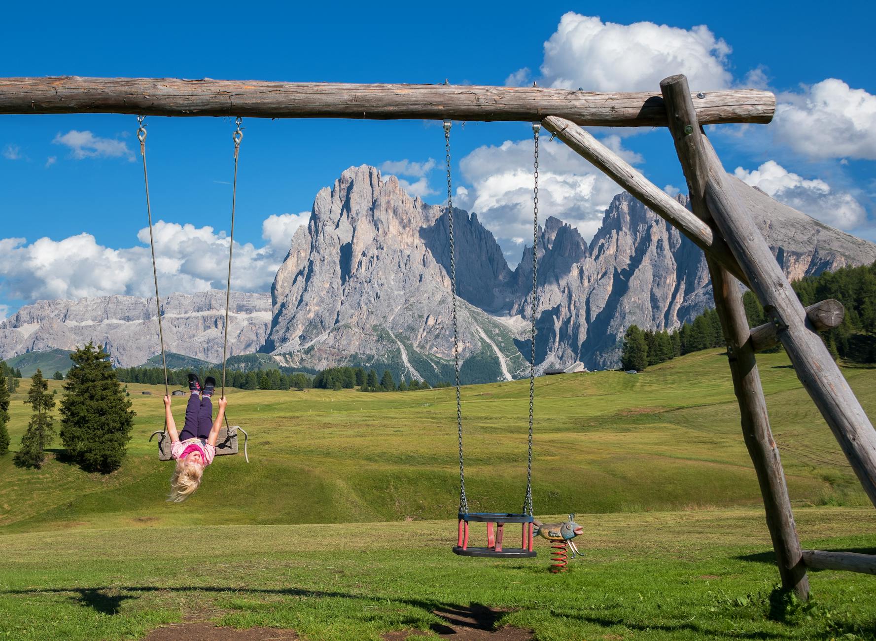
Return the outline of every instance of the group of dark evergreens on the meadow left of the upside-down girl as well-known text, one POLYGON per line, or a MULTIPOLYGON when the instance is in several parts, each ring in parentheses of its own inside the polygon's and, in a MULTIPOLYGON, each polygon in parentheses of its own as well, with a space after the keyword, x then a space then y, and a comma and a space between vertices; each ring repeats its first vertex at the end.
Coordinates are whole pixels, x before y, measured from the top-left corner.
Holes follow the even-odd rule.
MULTIPOLYGON (((135 413, 131 401, 119 383, 109 356, 102 347, 88 343, 70 355, 73 367, 67 372, 60 401, 60 440, 67 460, 88 472, 104 474, 118 469, 124 459, 135 413)), ((0 455, 9 452, 10 391, 3 363, 0 367, 0 455)), ((20 373, 20 372, 19 372, 20 373)), ((46 461, 46 449, 56 435, 55 407, 57 391, 49 392, 48 381, 37 370, 25 405, 32 415, 21 437, 13 462, 22 468, 40 468, 46 461)))

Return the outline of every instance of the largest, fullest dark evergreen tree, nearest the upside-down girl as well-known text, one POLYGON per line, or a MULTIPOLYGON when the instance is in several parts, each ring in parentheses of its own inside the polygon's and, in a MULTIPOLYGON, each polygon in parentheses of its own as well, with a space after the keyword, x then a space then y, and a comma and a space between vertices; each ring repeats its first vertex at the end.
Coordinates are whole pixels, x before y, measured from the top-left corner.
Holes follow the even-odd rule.
POLYGON ((101 346, 88 343, 70 355, 60 403, 60 439, 84 470, 109 474, 122 465, 134 412, 101 346))

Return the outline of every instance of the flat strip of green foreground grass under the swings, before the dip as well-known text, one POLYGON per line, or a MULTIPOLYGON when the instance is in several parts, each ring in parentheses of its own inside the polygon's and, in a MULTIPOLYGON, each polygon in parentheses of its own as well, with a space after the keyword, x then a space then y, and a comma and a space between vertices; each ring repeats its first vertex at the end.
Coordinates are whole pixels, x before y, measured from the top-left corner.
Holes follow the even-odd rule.
MULTIPOLYGON (((876 552, 870 508, 797 511, 804 543, 876 552), (850 532, 870 532, 867 534, 850 532)), ((442 610, 506 610, 498 626, 568 639, 876 638, 876 578, 778 580, 759 510, 581 515, 583 558, 463 559, 456 523, 230 525, 0 536, 0 638, 141 637, 184 616, 307 639, 446 630, 442 610), (439 615, 434 614, 439 611, 439 615)))

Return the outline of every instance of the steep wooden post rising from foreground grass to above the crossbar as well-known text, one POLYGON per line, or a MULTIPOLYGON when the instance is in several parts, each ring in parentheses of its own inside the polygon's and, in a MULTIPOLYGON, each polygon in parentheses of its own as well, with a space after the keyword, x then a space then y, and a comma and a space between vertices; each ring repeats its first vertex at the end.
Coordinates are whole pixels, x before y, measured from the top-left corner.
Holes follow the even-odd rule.
MULTIPOLYGON (((687 79, 684 76, 668 78, 661 82, 661 90, 667 102, 669 131, 688 182, 691 207, 704 222, 710 222, 712 213, 705 200, 709 174, 702 153, 705 136, 696 119, 690 96, 684 93, 688 91, 687 79)), ((775 445, 769 425, 767 400, 760 383, 752 342, 749 341, 750 331, 742 292, 738 280, 729 271, 710 258, 707 261, 715 308, 727 343, 742 434, 758 475, 782 588, 793 590, 800 598, 807 599, 809 578, 802 561, 800 539, 788 498, 779 448, 775 445)))

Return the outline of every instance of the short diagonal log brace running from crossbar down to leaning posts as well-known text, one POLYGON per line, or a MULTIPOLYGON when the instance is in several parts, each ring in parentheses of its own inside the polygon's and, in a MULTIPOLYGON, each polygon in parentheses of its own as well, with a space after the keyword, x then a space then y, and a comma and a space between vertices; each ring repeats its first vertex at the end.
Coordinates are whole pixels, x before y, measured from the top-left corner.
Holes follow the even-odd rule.
POLYGON ((739 268, 727 243, 720 236, 715 236, 712 229, 696 215, 682 207, 679 201, 647 180, 642 173, 627 163, 618 154, 600 143, 590 133, 559 116, 548 116, 541 124, 545 129, 555 134, 563 143, 569 145, 572 151, 590 161, 590 164, 605 173, 620 187, 642 201, 646 207, 660 215, 666 222, 675 226, 685 236, 696 244, 706 254, 714 258, 718 264, 731 271, 740 279, 745 275, 739 268))

